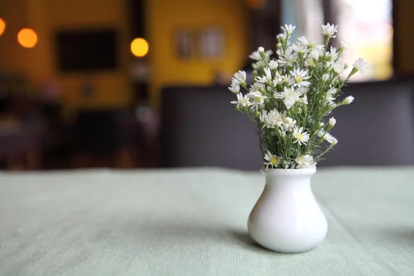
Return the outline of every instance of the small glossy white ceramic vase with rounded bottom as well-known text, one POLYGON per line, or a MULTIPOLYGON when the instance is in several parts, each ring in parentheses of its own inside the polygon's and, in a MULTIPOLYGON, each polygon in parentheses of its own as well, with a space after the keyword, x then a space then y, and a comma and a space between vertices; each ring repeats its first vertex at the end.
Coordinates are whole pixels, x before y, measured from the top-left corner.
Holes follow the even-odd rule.
POLYGON ((325 238, 328 223, 313 196, 316 168, 263 170, 266 186, 248 218, 255 242, 281 253, 300 253, 325 238))

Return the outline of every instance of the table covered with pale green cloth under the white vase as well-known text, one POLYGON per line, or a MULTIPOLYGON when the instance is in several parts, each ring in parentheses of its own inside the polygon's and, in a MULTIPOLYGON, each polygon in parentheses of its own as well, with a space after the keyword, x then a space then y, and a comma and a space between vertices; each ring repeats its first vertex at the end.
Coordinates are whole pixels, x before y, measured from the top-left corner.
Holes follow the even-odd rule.
POLYGON ((0 174, 0 275, 413 275, 414 168, 320 169, 324 242, 273 253, 248 236, 259 172, 0 174))

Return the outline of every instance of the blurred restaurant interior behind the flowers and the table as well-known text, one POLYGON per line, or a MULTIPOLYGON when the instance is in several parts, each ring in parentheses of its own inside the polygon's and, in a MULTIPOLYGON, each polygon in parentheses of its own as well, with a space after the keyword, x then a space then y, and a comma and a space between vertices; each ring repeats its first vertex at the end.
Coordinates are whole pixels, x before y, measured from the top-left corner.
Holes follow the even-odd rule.
POLYGON ((326 165, 414 164, 413 10, 412 0, 2 0, 0 168, 259 168, 230 78, 257 46, 275 49, 282 23, 322 41, 326 22, 339 24, 333 46, 346 42, 346 61, 370 66, 346 88, 361 101, 338 114, 339 142, 379 137, 338 146, 326 165))

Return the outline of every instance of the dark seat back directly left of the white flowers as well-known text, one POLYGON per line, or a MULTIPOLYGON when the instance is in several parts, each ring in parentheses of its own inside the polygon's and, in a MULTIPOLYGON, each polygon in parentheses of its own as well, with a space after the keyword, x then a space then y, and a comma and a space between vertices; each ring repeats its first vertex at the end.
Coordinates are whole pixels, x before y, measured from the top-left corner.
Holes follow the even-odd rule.
POLYGON ((235 111, 224 87, 171 87, 162 92, 161 162, 165 167, 258 170, 255 126, 235 111))

